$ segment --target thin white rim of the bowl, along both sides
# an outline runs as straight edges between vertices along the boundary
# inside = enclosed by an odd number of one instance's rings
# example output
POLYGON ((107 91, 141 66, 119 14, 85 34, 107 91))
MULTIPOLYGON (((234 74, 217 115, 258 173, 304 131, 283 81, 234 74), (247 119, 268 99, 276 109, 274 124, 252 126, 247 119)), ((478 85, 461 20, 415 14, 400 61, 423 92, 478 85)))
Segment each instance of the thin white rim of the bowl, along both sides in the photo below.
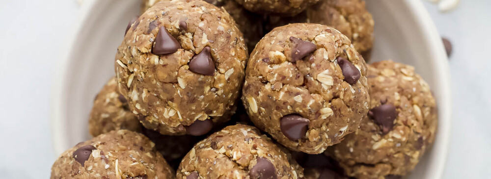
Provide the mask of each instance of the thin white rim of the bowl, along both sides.
MULTIPOLYGON (((54 76, 54 84, 52 86, 52 101, 51 101, 51 131, 52 131, 52 139, 53 139, 53 147, 55 150, 55 157, 59 153, 62 153, 66 149, 64 146, 67 146, 68 143, 66 141, 66 137, 64 136, 64 129, 67 125, 65 120, 66 117, 66 89, 70 82, 69 78, 66 76, 68 74, 68 69, 70 65, 73 63, 70 59, 73 53, 76 51, 76 46, 79 41, 83 40, 80 34, 82 34, 82 26, 87 24, 92 12, 97 11, 99 4, 104 3, 101 0, 85 0, 80 9, 80 17, 79 23, 76 23, 75 26, 71 29, 71 35, 67 41, 65 41, 64 54, 63 58, 58 60, 56 64, 56 69, 54 76)), ((450 128, 451 128, 451 90, 450 90, 450 73, 449 73, 449 65, 448 58, 443 48, 440 35, 436 30, 436 26, 433 23, 428 11, 420 0, 403 0, 403 3, 406 4, 410 13, 412 13, 413 17, 416 20, 416 24, 419 24, 422 30, 422 34, 425 39, 427 39, 427 43, 429 43, 429 47, 433 57, 433 63, 438 68, 435 68, 434 73, 436 76, 440 77, 439 81, 436 81, 437 86, 441 87, 441 90, 438 91, 441 99, 438 99, 438 108, 441 110, 438 116, 438 136, 436 137, 435 144, 433 147, 438 147, 438 149, 434 149, 438 152, 432 153, 431 157, 434 160, 433 165, 429 171, 432 172, 432 179, 440 179, 445 161, 448 153, 448 144, 450 139, 450 128), (443 123, 442 123, 443 121, 443 123)), ((429 157, 429 156, 426 156, 429 157)))

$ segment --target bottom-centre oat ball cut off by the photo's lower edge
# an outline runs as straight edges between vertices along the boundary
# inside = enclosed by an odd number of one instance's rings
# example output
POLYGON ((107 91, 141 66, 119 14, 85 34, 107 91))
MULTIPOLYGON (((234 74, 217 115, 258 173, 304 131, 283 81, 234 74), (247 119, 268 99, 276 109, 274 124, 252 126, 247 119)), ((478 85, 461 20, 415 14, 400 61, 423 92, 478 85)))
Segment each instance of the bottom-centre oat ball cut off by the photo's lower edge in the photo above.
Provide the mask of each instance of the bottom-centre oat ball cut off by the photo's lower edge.
POLYGON ((300 179, 303 169, 259 130, 235 125, 197 143, 177 170, 178 179, 300 179))

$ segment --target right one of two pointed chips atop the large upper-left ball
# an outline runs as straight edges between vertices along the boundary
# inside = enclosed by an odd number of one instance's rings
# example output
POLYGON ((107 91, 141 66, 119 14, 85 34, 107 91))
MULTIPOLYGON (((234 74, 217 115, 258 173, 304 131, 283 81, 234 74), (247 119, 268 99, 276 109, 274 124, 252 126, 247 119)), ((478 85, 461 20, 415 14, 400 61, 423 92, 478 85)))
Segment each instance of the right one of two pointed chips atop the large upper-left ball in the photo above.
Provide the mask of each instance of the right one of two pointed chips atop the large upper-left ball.
POLYGON ((194 55, 189 62, 189 70, 197 74, 213 76, 215 63, 212 60, 210 51, 210 47, 205 47, 197 55, 194 55))

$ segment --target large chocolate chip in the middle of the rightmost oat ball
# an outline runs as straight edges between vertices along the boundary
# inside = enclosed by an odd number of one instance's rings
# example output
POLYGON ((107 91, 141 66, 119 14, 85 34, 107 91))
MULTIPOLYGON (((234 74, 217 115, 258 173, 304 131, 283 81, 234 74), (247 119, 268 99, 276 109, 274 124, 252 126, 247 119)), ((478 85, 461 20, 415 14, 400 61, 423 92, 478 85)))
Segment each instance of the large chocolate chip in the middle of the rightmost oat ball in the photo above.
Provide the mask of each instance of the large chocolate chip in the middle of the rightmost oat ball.
POLYGON ((382 133, 386 134, 394 127, 397 111, 394 105, 385 103, 370 109, 368 116, 382 128, 382 133))

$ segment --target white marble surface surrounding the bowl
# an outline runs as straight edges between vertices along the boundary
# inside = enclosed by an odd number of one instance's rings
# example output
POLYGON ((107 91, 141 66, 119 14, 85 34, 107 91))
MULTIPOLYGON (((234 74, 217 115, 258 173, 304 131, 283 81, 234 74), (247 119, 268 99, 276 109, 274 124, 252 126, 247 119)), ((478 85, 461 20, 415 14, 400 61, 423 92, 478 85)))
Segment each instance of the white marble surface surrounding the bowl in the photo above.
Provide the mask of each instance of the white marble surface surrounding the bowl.
MULTIPOLYGON (((454 45, 450 58, 453 124, 443 179, 491 176, 490 0, 461 0, 439 13, 438 30, 454 45)), ((46 179, 56 156, 50 126, 55 64, 78 21, 76 0, 0 0, 0 178, 46 179)))

